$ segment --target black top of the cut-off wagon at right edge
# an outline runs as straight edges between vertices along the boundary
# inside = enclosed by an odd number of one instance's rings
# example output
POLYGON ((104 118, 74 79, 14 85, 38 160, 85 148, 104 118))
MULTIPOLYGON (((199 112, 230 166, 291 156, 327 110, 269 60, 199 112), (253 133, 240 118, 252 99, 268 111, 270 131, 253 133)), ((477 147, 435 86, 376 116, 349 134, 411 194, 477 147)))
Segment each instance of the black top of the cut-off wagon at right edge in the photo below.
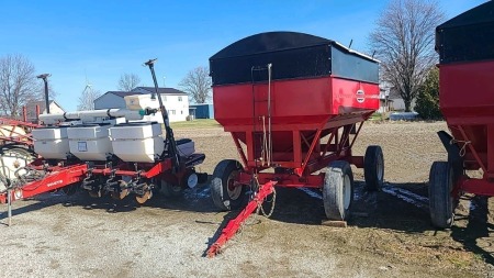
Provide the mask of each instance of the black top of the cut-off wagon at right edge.
POLYGON ((494 1, 487 1, 436 27, 440 64, 494 59, 494 1))

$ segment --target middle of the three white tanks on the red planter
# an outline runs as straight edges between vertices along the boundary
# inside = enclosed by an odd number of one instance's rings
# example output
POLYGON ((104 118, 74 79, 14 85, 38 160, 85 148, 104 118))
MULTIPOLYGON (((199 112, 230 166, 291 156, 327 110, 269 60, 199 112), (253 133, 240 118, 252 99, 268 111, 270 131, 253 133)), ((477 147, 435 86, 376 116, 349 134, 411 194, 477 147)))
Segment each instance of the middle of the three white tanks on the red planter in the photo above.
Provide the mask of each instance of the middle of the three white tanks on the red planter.
POLYGON ((67 130, 70 153, 81 160, 106 160, 112 155, 110 123, 80 124, 67 130))

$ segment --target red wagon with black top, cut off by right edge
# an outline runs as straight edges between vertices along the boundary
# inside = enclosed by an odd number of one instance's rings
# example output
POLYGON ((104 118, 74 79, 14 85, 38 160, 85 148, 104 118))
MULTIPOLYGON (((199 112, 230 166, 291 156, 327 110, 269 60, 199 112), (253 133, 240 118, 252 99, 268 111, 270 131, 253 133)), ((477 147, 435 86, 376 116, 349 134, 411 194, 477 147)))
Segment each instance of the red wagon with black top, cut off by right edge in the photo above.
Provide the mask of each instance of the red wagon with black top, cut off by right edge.
POLYGON ((467 11, 436 29, 439 103, 450 134, 438 132, 448 162, 429 176, 433 224, 449 227, 460 196, 494 196, 494 2, 467 11), (465 170, 481 170, 470 178, 465 170))

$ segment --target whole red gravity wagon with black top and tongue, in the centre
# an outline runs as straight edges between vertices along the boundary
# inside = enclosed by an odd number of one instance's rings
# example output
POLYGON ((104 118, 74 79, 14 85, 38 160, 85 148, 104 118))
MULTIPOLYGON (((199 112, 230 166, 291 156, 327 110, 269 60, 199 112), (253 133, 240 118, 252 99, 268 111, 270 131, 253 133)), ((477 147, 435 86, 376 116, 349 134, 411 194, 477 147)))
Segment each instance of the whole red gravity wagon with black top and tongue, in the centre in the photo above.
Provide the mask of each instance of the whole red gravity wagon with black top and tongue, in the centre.
POLYGON ((352 154, 363 122, 379 109, 378 60, 323 37, 269 32, 220 51, 210 70, 215 120, 232 134, 240 159, 216 166, 212 199, 221 210, 250 200, 210 256, 274 186, 321 189, 327 218, 338 221, 350 213, 351 164, 364 168, 368 189, 382 186, 381 147, 352 154))

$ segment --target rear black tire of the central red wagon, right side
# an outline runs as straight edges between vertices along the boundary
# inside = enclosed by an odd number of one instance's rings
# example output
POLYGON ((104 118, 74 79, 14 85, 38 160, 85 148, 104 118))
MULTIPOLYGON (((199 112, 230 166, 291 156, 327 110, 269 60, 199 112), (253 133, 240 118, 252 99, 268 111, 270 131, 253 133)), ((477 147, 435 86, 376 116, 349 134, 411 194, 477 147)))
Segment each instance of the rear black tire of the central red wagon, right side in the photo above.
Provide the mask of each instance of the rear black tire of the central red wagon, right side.
POLYGON ((363 177, 369 191, 380 191, 384 184, 384 156, 380 146, 368 146, 363 157, 363 177))

